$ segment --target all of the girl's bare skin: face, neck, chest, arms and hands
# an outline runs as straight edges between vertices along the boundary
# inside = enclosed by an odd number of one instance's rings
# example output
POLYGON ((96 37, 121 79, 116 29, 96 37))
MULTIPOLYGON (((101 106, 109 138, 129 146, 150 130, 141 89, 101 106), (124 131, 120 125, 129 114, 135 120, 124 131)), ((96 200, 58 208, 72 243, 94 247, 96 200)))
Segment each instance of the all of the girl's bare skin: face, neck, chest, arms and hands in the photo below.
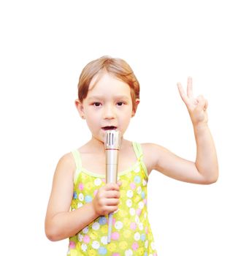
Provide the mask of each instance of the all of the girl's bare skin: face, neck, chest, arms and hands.
MULTIPOLYGON (((92 80, 88 95, 75 101, 80 116, 91 130, 92 138, 79 148, 82 165, 93 173, 104 174, 104 128, 113 126, 123 135, 135 112, 129 86, 105 72, 94 84, 92 80), (92 159, 97 159, 92 161, 92 159)), ((196 161, 177 157, 168 149, 143 143, 144 162, 148 174, 158 170, 166 176, 195 184, 212 184, 218 179, 218 160, 210 129, 207 125, 207 100, 203 96, 193 97, 192 79, 188 78, 187 94, 177 84, 181 99, 191 116, 196 140, 196 161)), ((139 99, 136 100, 139 104, 139 99)), ((128 169, 137 159, 131 141, 122 139, 119 151, 118 172, 128 169)), ((58 162, 53 178, 53 187, 45 218, 45 233, 51 241, 74 236, 94 219, 118 209, 120 183, 106 184, 99 189, 91 203, 75 211, 69 211, 73 195, 75 164, 72 154, 66 154, 58 162)))

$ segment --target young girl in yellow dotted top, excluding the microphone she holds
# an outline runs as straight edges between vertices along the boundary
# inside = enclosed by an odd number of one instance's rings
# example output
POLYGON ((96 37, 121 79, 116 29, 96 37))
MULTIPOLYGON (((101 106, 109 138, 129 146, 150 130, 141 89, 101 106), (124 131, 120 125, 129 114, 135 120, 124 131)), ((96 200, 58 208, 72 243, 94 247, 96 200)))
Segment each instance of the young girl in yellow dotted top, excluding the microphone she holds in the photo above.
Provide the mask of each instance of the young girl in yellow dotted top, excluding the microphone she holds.
POLYGON ((139 83, 122 59, 103 56, 85 66, 75 101, 91 130, 91 140, 62 157, 55 170, 45 218, 51 241, 69 238, 68 255, 156 255, 147 219, 147 181, 151 170, 196 184, 218 178, 218 161, 207 126, 207 100, 193 97, 192 79, 180 96, 188 108, 196 139, 196 162, 182 159, 153 143, 122 138, 118 183, 105 184, 104 133, 126 132, 139 104, 139 83), (71 208, 71 211, 69 211, 71 208), (113 214, 107 244, 107 214, 113 214))

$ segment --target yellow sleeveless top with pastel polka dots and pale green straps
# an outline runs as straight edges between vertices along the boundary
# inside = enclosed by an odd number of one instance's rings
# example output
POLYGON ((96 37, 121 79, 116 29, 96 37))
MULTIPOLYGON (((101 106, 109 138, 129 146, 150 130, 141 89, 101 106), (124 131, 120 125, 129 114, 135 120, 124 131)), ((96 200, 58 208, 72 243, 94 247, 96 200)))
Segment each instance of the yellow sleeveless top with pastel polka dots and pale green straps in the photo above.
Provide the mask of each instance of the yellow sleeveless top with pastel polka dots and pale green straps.
MULTIPOLYGON (((69 238, 68 256, 156 256, 153 234, 147 218, 147 169, 142 160, 142 148, 133 143, 137 162, 120 172, 120 204, 113 214, 112 237, 107 244, 108 216, 101 216, 69 238)), ((80 152, 72 151, 77 166, 71 210, 90 203, 99 188, 105 185, 104 175, 91 173, 82 167, 80 152)))

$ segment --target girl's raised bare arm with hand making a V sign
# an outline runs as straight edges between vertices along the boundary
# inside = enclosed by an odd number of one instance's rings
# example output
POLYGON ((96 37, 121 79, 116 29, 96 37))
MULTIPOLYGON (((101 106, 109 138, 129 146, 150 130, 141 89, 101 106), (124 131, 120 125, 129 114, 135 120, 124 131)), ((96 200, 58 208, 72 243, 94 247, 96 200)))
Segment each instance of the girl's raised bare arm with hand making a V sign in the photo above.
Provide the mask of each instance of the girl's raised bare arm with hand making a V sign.
POLYGON ((185 95, 180 83, 178 83, 178 89, 193 123, 196 140, 196 161, 192 162, 177 157, 177 155, 161 146, 147 144, 144 147, 149 172, 155 169, 180 181, 211 184, 218 179, 218 159, 212 135, 207 125, 207 100, 202 96, 196 99, 193 98, 191 78, 188 78, 187 95, 185 95))

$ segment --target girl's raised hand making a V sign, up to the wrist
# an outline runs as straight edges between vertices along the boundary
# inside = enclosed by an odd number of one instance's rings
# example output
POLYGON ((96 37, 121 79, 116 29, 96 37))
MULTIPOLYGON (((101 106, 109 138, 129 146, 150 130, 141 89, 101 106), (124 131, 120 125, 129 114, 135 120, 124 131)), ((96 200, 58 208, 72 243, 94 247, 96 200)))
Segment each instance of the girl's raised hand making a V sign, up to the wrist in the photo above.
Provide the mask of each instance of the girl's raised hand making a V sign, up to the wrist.
POLYGON ((188 85, 187 85, 187 94, 183 90, 183 86, 181 83, 177 83, 177 88, 180 92, 180 96, 185 103, 188 113, 191 117, 191 121, 193 126, 200 126, 203 124, 207 124, 207 99, 204 99, 202 95, 198 97, 193 97, 193 80, 191 77, 188 77, 188 85))

